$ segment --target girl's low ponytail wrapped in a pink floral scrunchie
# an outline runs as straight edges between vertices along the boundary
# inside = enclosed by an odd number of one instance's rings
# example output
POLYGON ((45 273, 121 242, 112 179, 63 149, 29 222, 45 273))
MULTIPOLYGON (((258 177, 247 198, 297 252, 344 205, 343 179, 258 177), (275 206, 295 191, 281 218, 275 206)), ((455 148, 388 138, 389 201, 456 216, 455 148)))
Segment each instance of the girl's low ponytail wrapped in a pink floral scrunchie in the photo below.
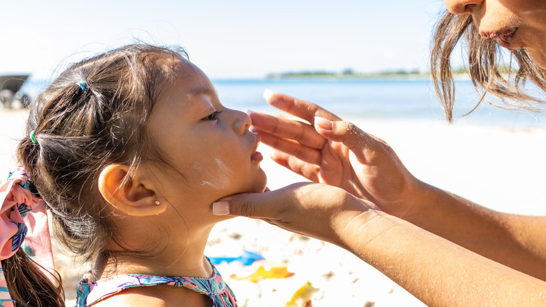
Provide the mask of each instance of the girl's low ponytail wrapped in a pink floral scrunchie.
POLYGON ((45 203, 32 190, 22 167, 0 185, 0 305, 61 307, 60 277, 49 271, 52 252, 45 203))

